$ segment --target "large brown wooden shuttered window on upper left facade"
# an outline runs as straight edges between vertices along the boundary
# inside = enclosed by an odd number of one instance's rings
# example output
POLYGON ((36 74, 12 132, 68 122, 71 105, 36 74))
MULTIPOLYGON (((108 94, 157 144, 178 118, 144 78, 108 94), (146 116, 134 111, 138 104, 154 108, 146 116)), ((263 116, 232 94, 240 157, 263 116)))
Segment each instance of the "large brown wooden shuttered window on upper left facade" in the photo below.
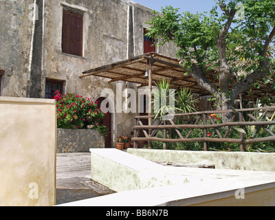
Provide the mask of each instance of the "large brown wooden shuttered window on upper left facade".
POLYGON ((63 12, 62 52, 83 56, 83 16, 63 12))

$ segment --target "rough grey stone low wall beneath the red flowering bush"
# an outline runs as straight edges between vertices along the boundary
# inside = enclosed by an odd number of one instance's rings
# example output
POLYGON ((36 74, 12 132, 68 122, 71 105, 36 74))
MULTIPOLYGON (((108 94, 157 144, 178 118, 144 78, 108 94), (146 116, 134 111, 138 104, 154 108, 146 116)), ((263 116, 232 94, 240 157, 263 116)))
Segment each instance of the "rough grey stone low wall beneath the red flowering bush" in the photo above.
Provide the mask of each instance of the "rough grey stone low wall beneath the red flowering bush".
POLYGON ((89 152, 90 148, 104 148, 104 137, 98 131, 57 129, 57 153, 89 152))

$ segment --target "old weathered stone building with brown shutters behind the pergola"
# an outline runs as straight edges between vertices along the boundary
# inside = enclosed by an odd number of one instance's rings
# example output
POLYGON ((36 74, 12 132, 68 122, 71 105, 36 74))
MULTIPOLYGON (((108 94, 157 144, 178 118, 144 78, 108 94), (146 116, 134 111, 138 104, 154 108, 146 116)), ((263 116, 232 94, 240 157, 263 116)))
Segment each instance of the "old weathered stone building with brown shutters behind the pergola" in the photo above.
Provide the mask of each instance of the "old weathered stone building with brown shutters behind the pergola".
MULTIPOLYGON (((79 76, 149 51, 175 57, 173 44, 149 47, 153 39, 144 33, 152 17, 151 9, 126 0, 1 0, 0 95, 53 98, 59 90, 96 101, 104 88, 115 92, 106 78, 79 76)), ((131 133, 134 116, 109 115, 107 146, 131 133)))

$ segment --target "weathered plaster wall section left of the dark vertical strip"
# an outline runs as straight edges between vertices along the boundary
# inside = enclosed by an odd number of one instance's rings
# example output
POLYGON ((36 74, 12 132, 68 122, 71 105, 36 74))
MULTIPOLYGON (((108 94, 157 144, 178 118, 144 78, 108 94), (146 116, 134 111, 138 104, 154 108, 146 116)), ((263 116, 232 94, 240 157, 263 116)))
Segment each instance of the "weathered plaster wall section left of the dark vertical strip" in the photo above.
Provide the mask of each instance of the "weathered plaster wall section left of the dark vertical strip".
POLYGON ((32 45, 32 0, 0 3, 0 69, 3 96, 26 97, 32 45))

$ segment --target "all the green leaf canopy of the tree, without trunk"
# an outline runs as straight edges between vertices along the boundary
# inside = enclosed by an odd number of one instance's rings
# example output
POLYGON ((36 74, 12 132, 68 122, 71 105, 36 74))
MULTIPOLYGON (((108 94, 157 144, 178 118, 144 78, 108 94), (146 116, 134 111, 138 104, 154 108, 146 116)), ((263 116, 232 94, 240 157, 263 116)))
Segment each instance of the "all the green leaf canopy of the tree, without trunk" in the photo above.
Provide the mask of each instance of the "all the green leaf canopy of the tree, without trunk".
MULTIPOLYGON (((274 0, 216 0, 216 5, 209 13, 183 12, 180 14, 179 8, 171 6, 162 8, 161 12, 162 14, 155 12, 153 19, 148 22, 151 25, 148 36, 156 39, 155 45, 162 46, 168 41, 173 41, 179 48, 177 57, 182 61, 187 72, 190 72, 194 63, 199 65, 204 74, 210 69, 220 67, 219 55, 221 54, 217 47, 217 36, 224 28, 229 28, 227 27, 228 18, 233 12, 236 15, 224 38, 226 63, 232 70, 232 76, 228 81, 232 83, 232 78, 236 78, 238 72, 245 73, 241 74, 238 80, 249 76, 259 68, 264 58, 273 61, 274 36, 267 54, 264 54, 265 57, 262 52, 275 26, 274 0), (243 9, 244 19, 237 16, 238 4, 243 5, 241 9, 243 9)), ((275 69, 272 68, 272 71, 267 73, 267 77, 273 83, 275 82, 274 72, 275 69)), ((219 74, 217 77, 219 78, 219 74)), ((228 92, 226 97, 230 98, 230 96, 228 92)))

